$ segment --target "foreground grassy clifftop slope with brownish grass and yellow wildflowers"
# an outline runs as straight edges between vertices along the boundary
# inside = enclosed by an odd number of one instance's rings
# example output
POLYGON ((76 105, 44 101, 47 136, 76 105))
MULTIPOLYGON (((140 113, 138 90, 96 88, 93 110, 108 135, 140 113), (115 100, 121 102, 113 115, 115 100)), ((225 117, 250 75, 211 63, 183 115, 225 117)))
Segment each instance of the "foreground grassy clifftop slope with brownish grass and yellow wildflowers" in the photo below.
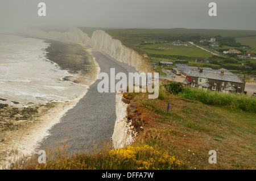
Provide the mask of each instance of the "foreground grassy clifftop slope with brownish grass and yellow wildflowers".
POLYGON ((108 143, 73 156, 60 151, 46 164, 31 160, 14 169, 255 169, 255 112, 208 105, 183 94, 169 94, 163 87, 158 99, 123 94, 127 118, 138 132, 132 145, 114 150, 108 143), (210 150, 217 153, 216 164, 208 162, 210 150))

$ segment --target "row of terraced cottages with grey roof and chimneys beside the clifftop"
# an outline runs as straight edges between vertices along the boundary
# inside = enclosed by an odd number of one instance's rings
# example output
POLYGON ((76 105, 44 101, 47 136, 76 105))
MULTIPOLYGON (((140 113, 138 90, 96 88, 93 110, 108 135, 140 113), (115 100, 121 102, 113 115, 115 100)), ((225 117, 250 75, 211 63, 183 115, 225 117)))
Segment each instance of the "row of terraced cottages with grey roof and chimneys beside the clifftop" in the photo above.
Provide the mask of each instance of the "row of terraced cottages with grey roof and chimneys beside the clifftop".
POLYGON ((180 75, 185 77, 183 85, 225 93, 240 94, 245 92, 245 78, 242 80, 229 70, 213 70, 185 65, 178 65, 176 69, 179 70, 180 75))

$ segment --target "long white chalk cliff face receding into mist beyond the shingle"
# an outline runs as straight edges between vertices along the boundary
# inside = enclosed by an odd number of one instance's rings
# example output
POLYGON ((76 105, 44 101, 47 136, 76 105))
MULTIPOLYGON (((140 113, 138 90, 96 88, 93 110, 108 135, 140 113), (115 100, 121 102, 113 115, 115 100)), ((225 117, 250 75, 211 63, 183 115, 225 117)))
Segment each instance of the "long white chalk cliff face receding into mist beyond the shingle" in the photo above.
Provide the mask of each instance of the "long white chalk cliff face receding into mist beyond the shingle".
POLYGON ((44 32, 39 29, 32 29, 28 31, 27 35, 89 45, 92 48, 108 53, 118 61, 134 66, 139 73, 155 72, 152 66, 150 66, 150 63, 140 54, 135 50, 122 45, 121 41, 113 39, 112 36, 103 30, 94 31, 92 37, 89 37, 79 28, 73 28, 67 32, 44 32))

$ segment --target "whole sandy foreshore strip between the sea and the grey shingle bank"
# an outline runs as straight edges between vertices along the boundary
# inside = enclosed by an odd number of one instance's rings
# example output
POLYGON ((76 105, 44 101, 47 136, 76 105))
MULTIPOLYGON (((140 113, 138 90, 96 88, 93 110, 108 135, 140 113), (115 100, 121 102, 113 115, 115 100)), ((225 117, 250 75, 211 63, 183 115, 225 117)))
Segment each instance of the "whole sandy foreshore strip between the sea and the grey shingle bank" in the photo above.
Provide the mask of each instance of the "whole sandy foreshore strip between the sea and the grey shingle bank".
MULTIPOLYGON (((51 43, 51 45, 46 48, 46 58, 58 64, 60 69, 66 69, 72 74, 72 77, 63 77, 61 81, 81 83, 82 85, 86 85, 89 89, 89 86, 97 80, 97 75, 100 73, 100 68, 94 60, 94 57, 90 55, 89 50, 78 43, 56 40, 46 41, 51 43), (51 49, 54 46, 52 46, 52 43, 56 44, 53 49, 51 49), (63 60, 63 57, 56 56, 56 54, 60 54, 57 49, 58 44, 67 45, 67 49, 72 47, 73 52, 65 50, 62 52, 62 56, 67 57, 67 59, 63 60), (77 58, 75 54, 79 54, 79 57, 77 58), (71 62, 71 57, 76 61, 72 61, 72 64, 61 64, 55 56, 63 60, 64 63, 68 60, 71 62), (78 62, 79 64, 77 64, 78 62), (74 64, 79 66, 73 66, 74 64)), ((63 47, 60 46, 59 50, 60 49, 63 49, 63 47)), ((1 132, 0 135, 0 169, 8 169, 12 162, 17 161, 23 155, 30 156, 36 153, 36 151, 38 151, 37 144, 49 135, 49 129, 59 123, 61 117, 63 117, 68 110, 76 106, 79 100, 85 96, 88 89, 85 90, 82 95, 66 102, 53 102, 47 105, 40 104, 33 106, 28 104, 28 107, 36 108, 37 111, 34 114, 32 113, 29 119, 18 120, 18 123, 11 118, 7 120, 12 129, 7 129, 1 132), (16 125, 19 126, 16 127, 16 125)), ((13 108, 16 108, 16 106, 11 105, 10 109, 13 110, 13 108)), ((6 107, 5 109, 8 108, 6 107)))

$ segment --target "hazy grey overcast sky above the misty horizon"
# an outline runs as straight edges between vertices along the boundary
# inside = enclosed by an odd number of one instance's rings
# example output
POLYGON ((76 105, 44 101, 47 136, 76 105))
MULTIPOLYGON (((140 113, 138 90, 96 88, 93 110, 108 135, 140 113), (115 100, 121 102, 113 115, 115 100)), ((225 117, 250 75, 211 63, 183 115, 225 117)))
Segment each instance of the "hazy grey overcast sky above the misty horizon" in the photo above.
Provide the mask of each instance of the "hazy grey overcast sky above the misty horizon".
POLYGON ((53 28, 204 28, 256 30, 256 0, 1 0, 0 30, 53 28), (46 16, 38 16, 38 3, 46 16), (209 16, 210 2, 217 16, 209 16))

